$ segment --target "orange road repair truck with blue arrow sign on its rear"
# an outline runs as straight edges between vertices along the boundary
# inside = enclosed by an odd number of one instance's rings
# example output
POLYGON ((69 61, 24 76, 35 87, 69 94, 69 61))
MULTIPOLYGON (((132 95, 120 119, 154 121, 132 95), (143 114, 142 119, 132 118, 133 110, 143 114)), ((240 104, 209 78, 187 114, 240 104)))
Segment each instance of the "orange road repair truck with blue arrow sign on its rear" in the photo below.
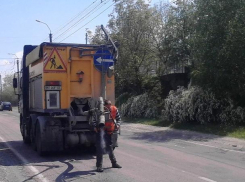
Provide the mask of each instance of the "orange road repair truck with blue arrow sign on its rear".
POLYGON ((110 44, 24 46, 19 80, 14 78, 13 85, 23 140, 40 155, 95 145, 93 123, 104 125, 109 116, 103 100, 115 102, 117 47, 106 37, 110 44))

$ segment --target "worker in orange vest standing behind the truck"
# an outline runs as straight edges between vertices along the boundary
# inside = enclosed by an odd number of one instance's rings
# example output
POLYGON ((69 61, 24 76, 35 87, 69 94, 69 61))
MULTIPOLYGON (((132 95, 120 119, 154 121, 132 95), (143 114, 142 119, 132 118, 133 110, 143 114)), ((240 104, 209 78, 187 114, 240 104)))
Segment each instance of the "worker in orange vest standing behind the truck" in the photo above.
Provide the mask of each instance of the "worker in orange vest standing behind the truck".
POLYGON ((102 163, 103 163, 103 147, 101 145, 101 142, 105 142, 105 149, 109 154, 109 158, 112 163, 112 168, 122 168, 117 161, 116 157, 113 152, 113 146, 112 146, 112 134, 115 131, 115 129, 119 129, 120 127, 120 121, 121 117, 119 115, 118 109, 116 106, 111 105, 110 100, 104 101, 105 111, 110 111, 110 120, 105 122, 104 131, 100 131, 96 129, 96 141, 97 141, 97 155, 96 155, 96 167, 97 172, 103 172, 102 163), (104 132, 104 136, 102 136, 102 132, 104 132), (102 138, 103 137, 103 138, 102 138))

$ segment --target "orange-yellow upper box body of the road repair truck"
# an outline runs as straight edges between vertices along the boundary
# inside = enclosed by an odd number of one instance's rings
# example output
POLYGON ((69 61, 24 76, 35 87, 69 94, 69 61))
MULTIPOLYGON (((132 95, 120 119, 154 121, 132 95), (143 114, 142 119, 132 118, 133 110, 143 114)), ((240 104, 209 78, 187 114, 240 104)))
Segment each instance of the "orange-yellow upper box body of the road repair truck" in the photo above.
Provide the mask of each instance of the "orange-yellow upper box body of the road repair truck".
MULTIPOLYGON (((43 44, 32 54, 27 55, 26 65, 29 66, 30 79, 42 77, 42 98, 46 98, 45 84, 47 81, 60 81, 60 108, 70 107, 74 98, 94 98, 101 96, 101 72, 94 66, 96 49, 87 45, 43 44), (86 46, 86 47, 85 47, 86 46), (89 51, 86 51, 89 50, 89 51), (81 55, 81 50, 83 50, 81 55), (53 63, 52 63, 53 60, 53 63), (82 81, 79 74, 83 72, 82 81)), ((105 74, 105 98, 115 103, 114 75, 105 74)), ((31 99, 35 108, 35 99, 31 99)), ((42 100, 42 108, 47 108, 47 99, 42 100)))

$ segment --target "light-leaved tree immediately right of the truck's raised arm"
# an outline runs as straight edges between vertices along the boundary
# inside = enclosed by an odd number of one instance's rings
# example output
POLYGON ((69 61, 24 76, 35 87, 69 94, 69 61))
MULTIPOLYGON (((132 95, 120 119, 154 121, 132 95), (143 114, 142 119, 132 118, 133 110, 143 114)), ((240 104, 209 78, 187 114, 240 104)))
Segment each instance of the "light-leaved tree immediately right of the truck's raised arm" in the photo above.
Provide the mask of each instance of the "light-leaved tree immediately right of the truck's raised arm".
POLYGON ((143 0, 123 0, 116 4, 108 28, 120 44, 116 65, 117 93, 145 92, 144 84, 154 67, 152 15, 155 9, 143 0))

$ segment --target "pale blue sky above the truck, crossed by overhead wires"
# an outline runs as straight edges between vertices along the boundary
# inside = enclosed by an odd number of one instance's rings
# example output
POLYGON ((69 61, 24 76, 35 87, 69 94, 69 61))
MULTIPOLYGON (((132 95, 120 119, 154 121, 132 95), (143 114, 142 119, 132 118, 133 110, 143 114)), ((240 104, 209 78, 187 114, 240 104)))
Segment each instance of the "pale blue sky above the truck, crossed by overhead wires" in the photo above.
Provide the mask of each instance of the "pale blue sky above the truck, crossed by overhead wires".
MULTIPOLYGON (((151 0, 151 5, 161 0, 151 0)), ((163 0, 164 1, 164 0, 163 0)), ((17 71, 24 45, 86 43, 86 28, 106 26, 113 0, 0 0, 0 75, 17 71), (102 2, 101 2, 102 1, 102 2), (46 24, 39 23, 36 20, 46 24)))

